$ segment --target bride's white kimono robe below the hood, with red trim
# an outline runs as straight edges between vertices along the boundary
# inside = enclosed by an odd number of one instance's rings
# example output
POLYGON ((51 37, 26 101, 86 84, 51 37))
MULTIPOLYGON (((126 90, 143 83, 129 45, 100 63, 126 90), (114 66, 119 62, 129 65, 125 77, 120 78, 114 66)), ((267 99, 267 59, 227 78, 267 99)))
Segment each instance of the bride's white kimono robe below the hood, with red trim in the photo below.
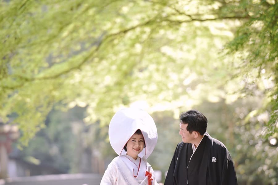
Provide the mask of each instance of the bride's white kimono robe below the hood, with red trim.
MULTIPOLYGON (((115 157, 108 165, 101 179, 100 185, 148 185, 148 177, 145 172, 150 164, 144 158, 133 159, 127 155, 115 157), (137 165, 141 159, 140 167, 137 165), (137 163, 136 163, 137 162, 137 163), (135 166, 139 167, 138 168, 135 166), (133 171, 134 170, 134 171, 133 171)), ((154 174, 154 170, 150 167, 150 172, 154 174)), ((154 175, 152 175, 153 185, 158 185, 154 175)))

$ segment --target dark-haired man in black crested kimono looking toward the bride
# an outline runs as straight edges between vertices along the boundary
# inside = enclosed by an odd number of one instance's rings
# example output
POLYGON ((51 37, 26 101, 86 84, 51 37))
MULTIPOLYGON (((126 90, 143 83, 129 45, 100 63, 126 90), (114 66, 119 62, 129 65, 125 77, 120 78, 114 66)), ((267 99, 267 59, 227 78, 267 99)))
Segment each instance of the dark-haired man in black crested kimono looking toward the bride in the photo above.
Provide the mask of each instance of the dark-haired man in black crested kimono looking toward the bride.
POLYGON ((223 143, 208 135, 207 118, 196 110, 180 115, 182 142, 164 185, 237 185, 234 163, 223 143))

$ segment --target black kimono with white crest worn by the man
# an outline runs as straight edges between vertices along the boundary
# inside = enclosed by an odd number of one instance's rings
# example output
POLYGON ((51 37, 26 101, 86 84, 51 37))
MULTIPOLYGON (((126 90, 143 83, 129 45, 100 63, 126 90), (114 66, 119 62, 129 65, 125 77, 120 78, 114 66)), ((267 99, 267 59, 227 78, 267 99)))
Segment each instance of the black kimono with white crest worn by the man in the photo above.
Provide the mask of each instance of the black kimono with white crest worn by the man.
POLYGON ((238 184, 234 163, 228 149, 208 133, 205 133, 194 155, 192 154, 191 143, 178 144, 164 185, 238 184))

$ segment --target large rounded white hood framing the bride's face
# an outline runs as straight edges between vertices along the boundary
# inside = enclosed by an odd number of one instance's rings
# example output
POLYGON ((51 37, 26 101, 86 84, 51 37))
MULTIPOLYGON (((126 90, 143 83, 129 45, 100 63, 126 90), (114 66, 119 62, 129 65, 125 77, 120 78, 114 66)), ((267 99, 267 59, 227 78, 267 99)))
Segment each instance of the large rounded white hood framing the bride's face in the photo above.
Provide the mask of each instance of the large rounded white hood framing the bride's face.
POLYGON ((112 117, 108 136, 118 155, 126 154, 124 145, 138 129, 141 130, 146 143, 138 156, 147 159, 157 143, 157 129, 153 118, 146 111, 137 108, 123 108, 112 117))

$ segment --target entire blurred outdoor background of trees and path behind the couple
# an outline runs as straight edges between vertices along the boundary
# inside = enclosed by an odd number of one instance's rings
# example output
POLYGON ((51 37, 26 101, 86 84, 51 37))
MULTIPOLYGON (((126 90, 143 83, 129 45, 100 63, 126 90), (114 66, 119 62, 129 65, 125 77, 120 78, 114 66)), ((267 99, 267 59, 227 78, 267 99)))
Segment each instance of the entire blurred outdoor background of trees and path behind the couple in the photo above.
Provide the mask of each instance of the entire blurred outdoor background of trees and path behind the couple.
POLYGON ((148 111, 163 184, 197 109, 239 185, 278 183, 276 0, 0 0, 0 184, 95 185, 120 108, 148 111))

